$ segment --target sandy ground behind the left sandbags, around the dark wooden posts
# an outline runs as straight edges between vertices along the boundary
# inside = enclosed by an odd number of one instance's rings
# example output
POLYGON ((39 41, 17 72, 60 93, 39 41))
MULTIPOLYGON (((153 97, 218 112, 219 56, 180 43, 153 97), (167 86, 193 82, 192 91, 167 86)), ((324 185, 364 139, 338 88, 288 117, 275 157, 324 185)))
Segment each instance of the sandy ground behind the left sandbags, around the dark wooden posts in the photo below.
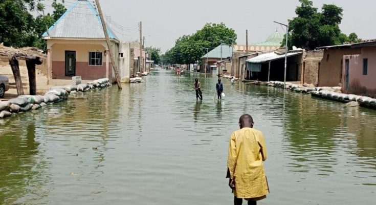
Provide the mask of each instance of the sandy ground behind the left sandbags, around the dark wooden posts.
MULTIPOLYGON (((29 94, 29 76, 28 76, 28 70, 26 66, 19 66, 19 70, 21 73, 21 80, 22 85, 24 88, 25 95, 29 94)), ((17 97, 17 89, 15 80, 13 77, 13 72, 10 66, 0 66, 0 74, 5 75, 9 78, 9 85, 10 88, 8 91, 5 92, 4 98, 0 98, 0 100, 8 100, 14 97, 17 97)), ((87 80, 83 80, 83 83, 87 83, 87 80)), ((42 72, 38 69, 36 69, 36 89, 37 94, 42 95, 46 91, 48 91, 52 86, 65 86, 65 85, 71 85, 72 80, 59 80, 59 79, 53 79, 50 82, 50 85, 47 85, 47 76, 43 75, 42 72)))

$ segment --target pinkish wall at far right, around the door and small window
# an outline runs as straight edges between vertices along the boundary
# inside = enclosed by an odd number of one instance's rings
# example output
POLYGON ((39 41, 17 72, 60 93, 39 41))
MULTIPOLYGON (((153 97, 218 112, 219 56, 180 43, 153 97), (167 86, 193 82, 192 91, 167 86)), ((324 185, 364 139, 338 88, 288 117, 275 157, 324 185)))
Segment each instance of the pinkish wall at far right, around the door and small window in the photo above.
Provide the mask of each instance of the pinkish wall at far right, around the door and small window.
POLYGON ((359 55, 344 55, 342 92, 376 97, 376 47, 363 47, 359 55), (363 59, 368 58, 367 75, 363 75, 363 59), (349 60, 349 88, 346 90, 346 63, 349 60))

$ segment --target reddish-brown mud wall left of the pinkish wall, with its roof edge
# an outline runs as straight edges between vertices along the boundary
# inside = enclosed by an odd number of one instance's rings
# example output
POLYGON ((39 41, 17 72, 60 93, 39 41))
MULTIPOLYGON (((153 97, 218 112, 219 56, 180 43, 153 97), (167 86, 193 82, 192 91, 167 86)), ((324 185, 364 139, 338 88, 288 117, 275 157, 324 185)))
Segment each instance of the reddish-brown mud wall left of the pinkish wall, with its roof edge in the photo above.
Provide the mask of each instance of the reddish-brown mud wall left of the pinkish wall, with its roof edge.
POLYGON ((318 86, 339 86, 342 83, 343 55, 360 54, 360 49, 329 48, 320 61, 318 86))

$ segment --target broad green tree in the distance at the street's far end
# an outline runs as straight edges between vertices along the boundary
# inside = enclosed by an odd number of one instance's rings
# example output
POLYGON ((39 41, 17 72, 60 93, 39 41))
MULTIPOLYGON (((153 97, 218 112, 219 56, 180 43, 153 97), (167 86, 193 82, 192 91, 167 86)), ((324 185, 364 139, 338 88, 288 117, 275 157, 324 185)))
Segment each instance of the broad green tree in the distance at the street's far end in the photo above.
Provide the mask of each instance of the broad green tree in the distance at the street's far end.
POLYGON ((236 34, 224 23, 206 24, 192 35, 183 35, 176 39, 175 46, 162 57, 165 64, 193 64, 207 52, 221 43, 235 44, 236 34))

